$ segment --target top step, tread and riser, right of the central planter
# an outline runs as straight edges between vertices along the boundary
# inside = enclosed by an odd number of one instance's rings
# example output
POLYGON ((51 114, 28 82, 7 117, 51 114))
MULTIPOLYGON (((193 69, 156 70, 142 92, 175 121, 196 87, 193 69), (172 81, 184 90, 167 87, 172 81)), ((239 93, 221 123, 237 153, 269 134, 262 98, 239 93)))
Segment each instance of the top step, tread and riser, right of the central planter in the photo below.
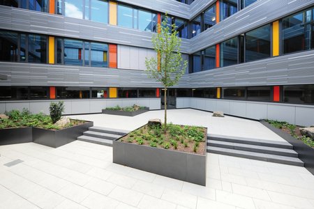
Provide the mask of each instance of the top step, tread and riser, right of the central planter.
POLYGON ((274 148, 293 149, 293 146, 287 141, 271 141, 265 139, 251 139, 244 137, 231 137, 218 134, 208 134, 207 139, 215 141, 227 141, 237 144, 251 144, 257 146, 269 146, 274 148))

